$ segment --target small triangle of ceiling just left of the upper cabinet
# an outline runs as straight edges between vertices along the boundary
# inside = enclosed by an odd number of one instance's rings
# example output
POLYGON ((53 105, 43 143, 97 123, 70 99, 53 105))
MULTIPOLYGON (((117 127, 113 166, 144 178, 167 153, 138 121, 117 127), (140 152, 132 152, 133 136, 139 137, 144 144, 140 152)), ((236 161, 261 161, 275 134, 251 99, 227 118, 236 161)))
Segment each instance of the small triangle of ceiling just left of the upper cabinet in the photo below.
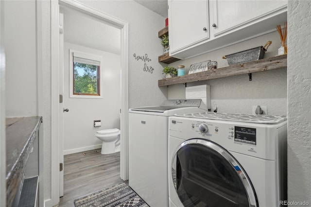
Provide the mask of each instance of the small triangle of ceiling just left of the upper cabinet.
POLYGON ((134 0, 164 18, 168 17, 167 0, 134 0))

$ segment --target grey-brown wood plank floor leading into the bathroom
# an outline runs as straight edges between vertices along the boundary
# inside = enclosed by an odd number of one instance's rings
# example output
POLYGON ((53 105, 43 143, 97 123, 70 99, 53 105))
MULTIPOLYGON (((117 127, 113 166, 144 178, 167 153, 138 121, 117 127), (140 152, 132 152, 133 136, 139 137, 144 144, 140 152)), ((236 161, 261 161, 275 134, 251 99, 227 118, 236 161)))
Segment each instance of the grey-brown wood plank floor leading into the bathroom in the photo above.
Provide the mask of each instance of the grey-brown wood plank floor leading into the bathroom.
POLYGON ((75 153, 64 156, 64 196, 60 207, 74 207, 74 199, 120 183, 120 153, 75 153))

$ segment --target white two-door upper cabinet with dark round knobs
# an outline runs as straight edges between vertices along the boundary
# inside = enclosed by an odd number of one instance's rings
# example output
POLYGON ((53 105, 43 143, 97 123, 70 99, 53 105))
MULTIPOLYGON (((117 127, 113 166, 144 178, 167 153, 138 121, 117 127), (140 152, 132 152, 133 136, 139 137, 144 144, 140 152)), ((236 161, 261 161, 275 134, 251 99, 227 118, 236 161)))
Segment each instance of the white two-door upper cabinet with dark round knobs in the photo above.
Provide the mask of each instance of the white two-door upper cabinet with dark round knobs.
POLYGON ((168 5, 170 56, 179 59, 276 31, 287 20, 287 0, 168 0, 168 5))

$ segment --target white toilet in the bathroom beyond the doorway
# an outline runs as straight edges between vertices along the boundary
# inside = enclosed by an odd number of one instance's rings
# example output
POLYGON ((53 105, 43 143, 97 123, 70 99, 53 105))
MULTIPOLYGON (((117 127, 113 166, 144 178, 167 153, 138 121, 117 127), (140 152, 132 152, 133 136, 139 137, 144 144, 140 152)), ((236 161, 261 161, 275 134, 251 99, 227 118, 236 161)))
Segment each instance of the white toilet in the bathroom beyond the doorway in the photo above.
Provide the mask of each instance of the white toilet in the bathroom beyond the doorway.
POLYGON ((97 131, 95 137, 103 141, 101 154, 107 155, 120 152, 120 129, 104 129, 97 131))

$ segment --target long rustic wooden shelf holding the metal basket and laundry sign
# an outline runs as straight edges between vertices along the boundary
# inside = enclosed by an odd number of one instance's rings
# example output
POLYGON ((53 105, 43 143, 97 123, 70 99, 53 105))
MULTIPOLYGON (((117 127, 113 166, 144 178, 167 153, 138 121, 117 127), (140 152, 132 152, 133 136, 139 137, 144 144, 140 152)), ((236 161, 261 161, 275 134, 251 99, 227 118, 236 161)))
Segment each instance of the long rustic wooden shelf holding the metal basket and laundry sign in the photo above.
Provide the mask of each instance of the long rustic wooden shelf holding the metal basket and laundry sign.
POLYGON ((248 63, 231 65, 224 68, 212 69, 203 72, 192 73, 173 78, 158 80, 158 86, 170 86, 174 84, 184 84, 196 81, 205 81, 214 78, 223 78, 235 75, 249 74, 273 69, 286 69, 287 55, 279 55, 248 63))

